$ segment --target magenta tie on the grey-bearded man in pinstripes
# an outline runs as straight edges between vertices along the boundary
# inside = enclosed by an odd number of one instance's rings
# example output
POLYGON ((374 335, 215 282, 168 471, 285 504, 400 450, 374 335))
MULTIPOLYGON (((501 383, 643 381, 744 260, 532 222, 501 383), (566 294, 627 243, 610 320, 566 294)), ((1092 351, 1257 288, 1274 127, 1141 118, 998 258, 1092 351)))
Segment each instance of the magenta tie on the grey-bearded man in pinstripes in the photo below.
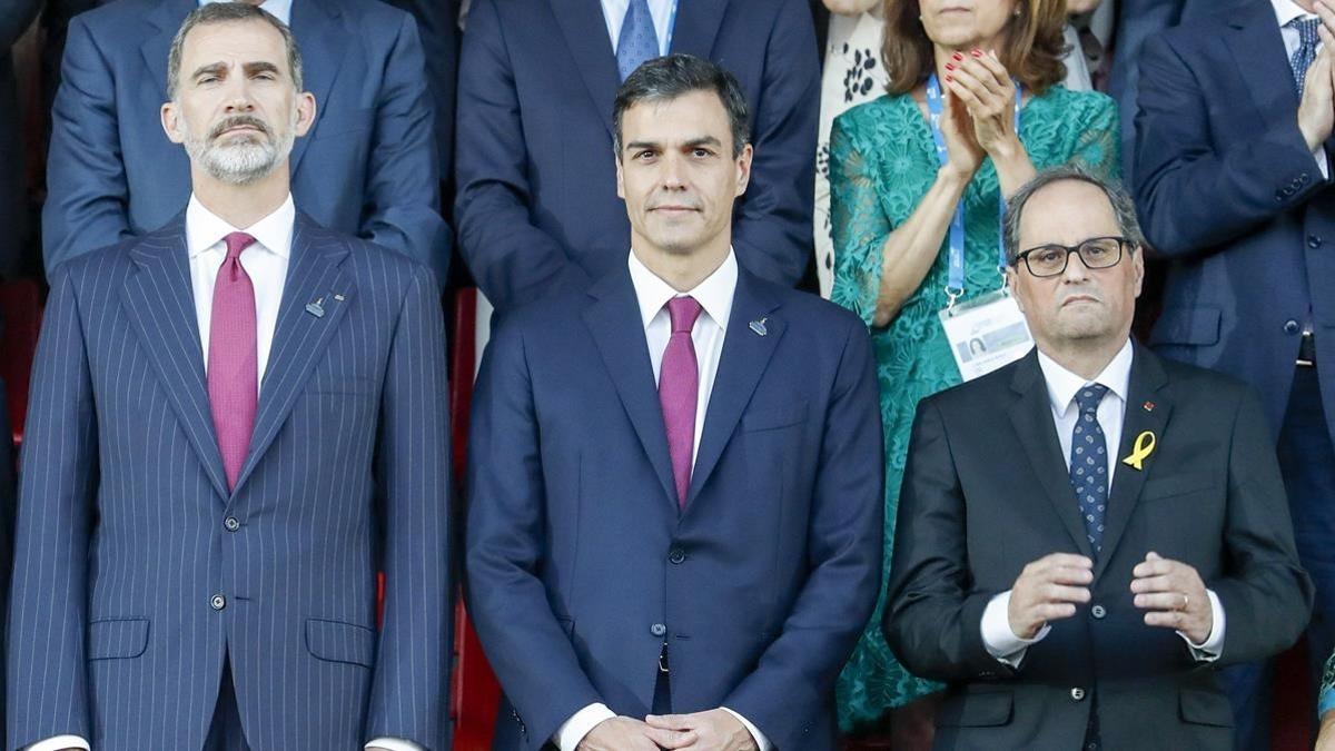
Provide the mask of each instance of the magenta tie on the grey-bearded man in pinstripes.
POLYGON ((255 350, 255 286, 240 259, 255 238, 232 233, 223 242, 227 243, 227 259, 214 283, 214 313, 208 325, 208 404, 231 490, 255 428, 259 354, 255 350))

